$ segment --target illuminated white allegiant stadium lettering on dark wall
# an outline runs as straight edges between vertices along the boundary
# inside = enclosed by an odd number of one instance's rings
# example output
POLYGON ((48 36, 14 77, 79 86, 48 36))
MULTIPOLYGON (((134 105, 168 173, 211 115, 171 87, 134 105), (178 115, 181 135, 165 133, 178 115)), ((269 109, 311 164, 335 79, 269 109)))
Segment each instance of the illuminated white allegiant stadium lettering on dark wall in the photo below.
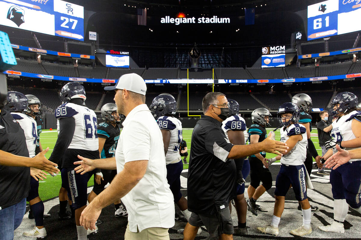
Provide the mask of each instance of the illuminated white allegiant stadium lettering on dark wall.
POLYGON ((179 25, 181 23, 230 23, 230 18, 219 18, 218 16, 213 16, 212 18, 186 18, 186 17, 177 17, 171 18, 169 16, 165 16, 160 19, 160 23, 174 23, 175 25, 179 25))

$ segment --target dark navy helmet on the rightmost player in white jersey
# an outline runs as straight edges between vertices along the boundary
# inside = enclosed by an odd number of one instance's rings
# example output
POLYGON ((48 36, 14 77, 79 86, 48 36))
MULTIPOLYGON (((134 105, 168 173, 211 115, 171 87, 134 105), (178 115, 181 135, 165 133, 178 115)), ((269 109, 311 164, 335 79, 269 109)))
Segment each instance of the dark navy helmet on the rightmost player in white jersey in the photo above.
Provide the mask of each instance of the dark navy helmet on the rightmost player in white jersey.
POLYGON ((331 108, 329 110, 331 116, 335 116, 338 113, 345 113, 348 109, 357 107, 358 99, 352 92, 340 92, 331 101, 332 107, 336 104, 340 104, 340 106, 336 109, 331 108))

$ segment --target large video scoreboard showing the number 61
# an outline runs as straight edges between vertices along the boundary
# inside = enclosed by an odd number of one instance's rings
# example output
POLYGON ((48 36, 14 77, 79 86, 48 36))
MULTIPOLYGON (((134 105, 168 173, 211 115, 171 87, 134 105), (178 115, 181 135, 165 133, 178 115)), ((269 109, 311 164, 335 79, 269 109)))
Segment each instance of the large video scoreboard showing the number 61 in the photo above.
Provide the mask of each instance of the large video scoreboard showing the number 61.
POLYGON ((361 30, 361 1, 327 0, 307 8, 307 40, 361 30))

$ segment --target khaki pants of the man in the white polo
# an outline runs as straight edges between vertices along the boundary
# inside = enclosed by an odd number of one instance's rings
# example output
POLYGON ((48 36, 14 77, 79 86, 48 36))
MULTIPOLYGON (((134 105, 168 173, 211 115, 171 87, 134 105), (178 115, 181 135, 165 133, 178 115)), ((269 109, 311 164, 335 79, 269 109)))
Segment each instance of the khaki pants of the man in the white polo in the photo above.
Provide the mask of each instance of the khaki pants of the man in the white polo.
POLYGON ((137 228, 137 232, 131 232, 128 223, 124 240, 169 240, 168 228, 149 227, 141 232, 137 228))

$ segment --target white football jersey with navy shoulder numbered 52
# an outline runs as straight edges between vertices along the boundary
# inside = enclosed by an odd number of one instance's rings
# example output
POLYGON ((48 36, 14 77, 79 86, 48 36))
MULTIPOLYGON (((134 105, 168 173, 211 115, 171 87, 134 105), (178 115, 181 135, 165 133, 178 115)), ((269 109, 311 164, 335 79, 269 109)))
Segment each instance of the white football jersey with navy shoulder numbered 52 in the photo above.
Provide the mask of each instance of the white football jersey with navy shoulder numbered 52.
MULTIPOLYGON (((179 145, 183 139, 182 123, 175 117, 162 116, 157 120, 161 130, 170 131, 170 140, 167 154, 165 155, 165 164, 174 163, 181 157, 179 154, 179 145)), ((179 162, 179 161, 178 161, 179 162)))

